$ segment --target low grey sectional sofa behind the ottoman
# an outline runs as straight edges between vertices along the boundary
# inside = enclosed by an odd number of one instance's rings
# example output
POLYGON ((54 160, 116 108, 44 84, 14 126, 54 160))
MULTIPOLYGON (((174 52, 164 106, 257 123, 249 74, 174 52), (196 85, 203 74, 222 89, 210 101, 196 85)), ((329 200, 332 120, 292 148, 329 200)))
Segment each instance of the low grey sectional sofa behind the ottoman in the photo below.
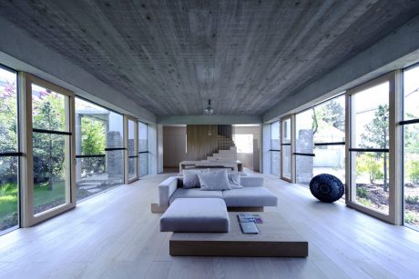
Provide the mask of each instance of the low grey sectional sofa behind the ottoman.
POLYGON ((169 206, 178 198, 221 198, 228 207, 276 206, 278 198, 263 187, 263 177, 241 176, 240 189, 202 191, 199 188, 182 188, 183 177, 171 176, 158 185, 158 205, 169 206))

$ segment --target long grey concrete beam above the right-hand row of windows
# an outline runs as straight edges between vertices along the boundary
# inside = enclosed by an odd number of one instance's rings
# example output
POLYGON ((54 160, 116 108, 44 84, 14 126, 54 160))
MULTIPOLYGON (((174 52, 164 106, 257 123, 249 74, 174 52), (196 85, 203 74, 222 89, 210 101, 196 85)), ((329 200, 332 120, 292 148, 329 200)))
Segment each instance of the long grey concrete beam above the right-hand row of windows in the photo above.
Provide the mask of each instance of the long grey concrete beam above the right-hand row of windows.
POLYGON ((300 111, 332 95, 419 61, 419 15, 263 114, 263 122, 300 111))

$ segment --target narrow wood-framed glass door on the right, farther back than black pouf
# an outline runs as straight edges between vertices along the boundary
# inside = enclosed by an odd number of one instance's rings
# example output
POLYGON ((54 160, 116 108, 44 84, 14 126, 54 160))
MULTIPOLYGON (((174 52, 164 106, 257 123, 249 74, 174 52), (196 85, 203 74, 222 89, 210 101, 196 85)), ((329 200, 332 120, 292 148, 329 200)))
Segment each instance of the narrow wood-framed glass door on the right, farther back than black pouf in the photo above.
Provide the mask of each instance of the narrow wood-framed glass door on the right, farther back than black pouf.
POLYGON ((292 117, 281 119, 281 179, 292 182, 292 117))

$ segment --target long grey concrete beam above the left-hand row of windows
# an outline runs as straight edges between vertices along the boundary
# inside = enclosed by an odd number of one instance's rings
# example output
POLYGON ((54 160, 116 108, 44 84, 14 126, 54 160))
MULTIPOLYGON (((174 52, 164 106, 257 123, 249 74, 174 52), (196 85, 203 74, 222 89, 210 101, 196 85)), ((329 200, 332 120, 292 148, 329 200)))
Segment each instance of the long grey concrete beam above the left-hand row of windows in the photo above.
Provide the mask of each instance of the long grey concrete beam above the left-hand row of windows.
POLYGON ((36 41, 26 31, 3 18, 0 40, 0 63, 17 71, 24 71, 65 87, 90 101, 105 105, 126 115, 132 115, 147 123, 156 123, 157 117, 136 104, 127 95, 90 75, 72 64, 65 56, 36 41))

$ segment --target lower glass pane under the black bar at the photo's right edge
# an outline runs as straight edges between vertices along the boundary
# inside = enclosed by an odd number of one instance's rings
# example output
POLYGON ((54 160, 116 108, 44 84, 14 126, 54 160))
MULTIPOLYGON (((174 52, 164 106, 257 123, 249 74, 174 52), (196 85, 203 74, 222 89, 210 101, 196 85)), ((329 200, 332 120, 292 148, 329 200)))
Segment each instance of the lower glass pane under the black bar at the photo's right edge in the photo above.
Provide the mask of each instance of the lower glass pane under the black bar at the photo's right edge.
POLYGON ((419 229, 419 124, 404 126, 404 223, 419 229))

